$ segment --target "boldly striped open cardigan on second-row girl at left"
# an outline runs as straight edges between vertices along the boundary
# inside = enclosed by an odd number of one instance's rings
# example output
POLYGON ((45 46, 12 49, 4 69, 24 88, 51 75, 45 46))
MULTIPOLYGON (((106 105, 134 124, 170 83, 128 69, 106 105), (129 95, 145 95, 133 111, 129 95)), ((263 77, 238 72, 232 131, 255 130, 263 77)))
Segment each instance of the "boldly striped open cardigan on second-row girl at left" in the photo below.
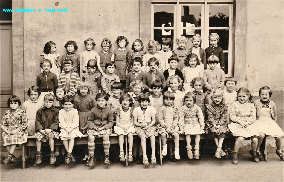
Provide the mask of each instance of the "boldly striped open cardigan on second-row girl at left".
MULTIPOLYGON (((79 83, 80 83, 80 78, 79 78, 78 73, 72 71, 72 73, 70 74, 69 93, 71 93, 73 96, 77 93, 77 87, 79 83)), ((65 73, 61 73, 59 75, 58 85, 61 85, 65 88, 66 86, 66 74, 65 73)))

